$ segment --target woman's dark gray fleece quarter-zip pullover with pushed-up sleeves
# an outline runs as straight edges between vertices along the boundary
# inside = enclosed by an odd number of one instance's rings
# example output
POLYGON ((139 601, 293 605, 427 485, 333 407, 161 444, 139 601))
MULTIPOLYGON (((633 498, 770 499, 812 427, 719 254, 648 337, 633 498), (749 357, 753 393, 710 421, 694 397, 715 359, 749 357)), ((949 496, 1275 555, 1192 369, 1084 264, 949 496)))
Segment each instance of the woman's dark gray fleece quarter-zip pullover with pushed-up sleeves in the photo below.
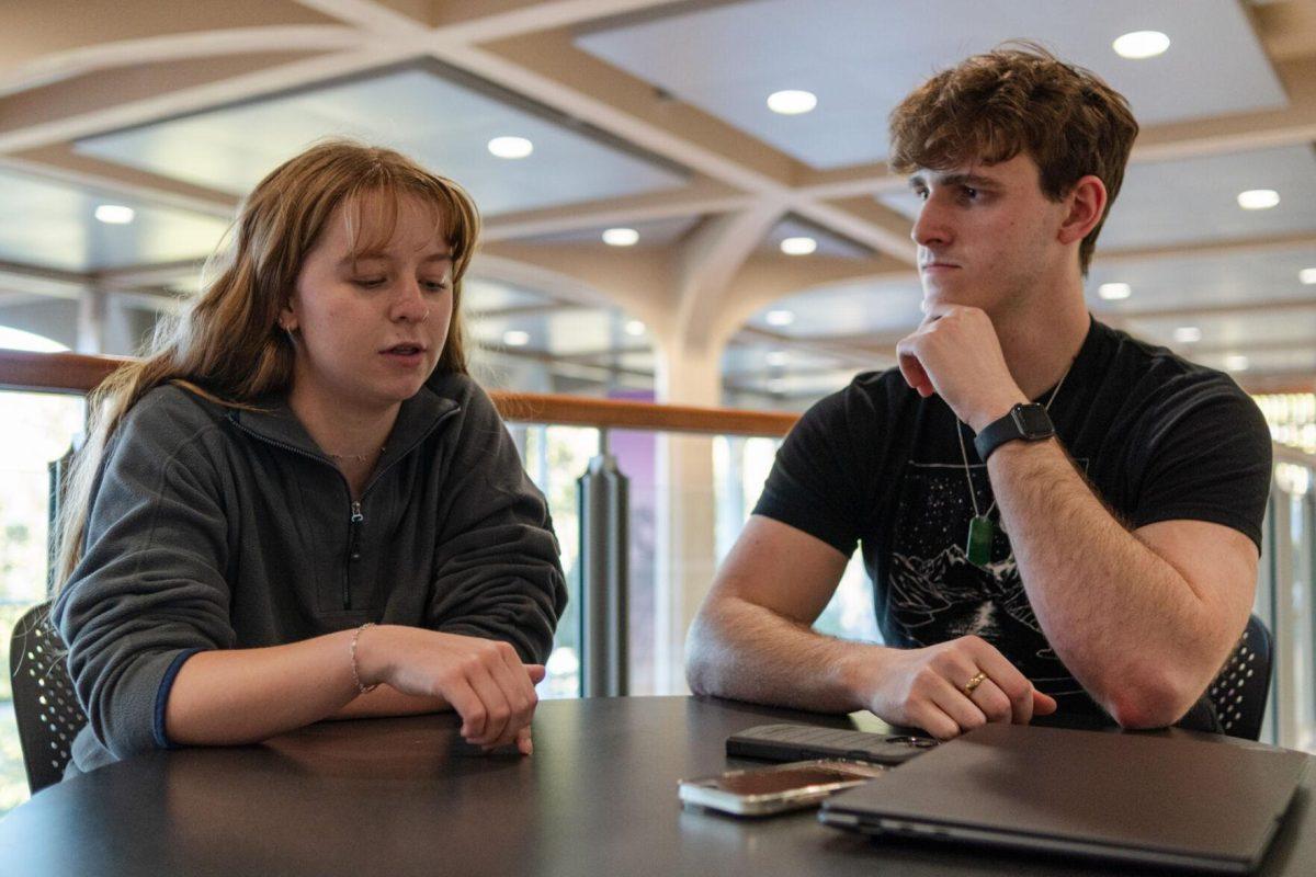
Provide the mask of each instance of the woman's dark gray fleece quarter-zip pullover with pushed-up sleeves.
POLYGON ((471 379, 436 375, 403 404, 359 504, 284 401, 259 408, 161 387, 107 447, 51 610, 89 719, 75 769, 167 747, 168 689, 201 650, 372 621, 547 657, 566 606, 553 523, 471 379))

